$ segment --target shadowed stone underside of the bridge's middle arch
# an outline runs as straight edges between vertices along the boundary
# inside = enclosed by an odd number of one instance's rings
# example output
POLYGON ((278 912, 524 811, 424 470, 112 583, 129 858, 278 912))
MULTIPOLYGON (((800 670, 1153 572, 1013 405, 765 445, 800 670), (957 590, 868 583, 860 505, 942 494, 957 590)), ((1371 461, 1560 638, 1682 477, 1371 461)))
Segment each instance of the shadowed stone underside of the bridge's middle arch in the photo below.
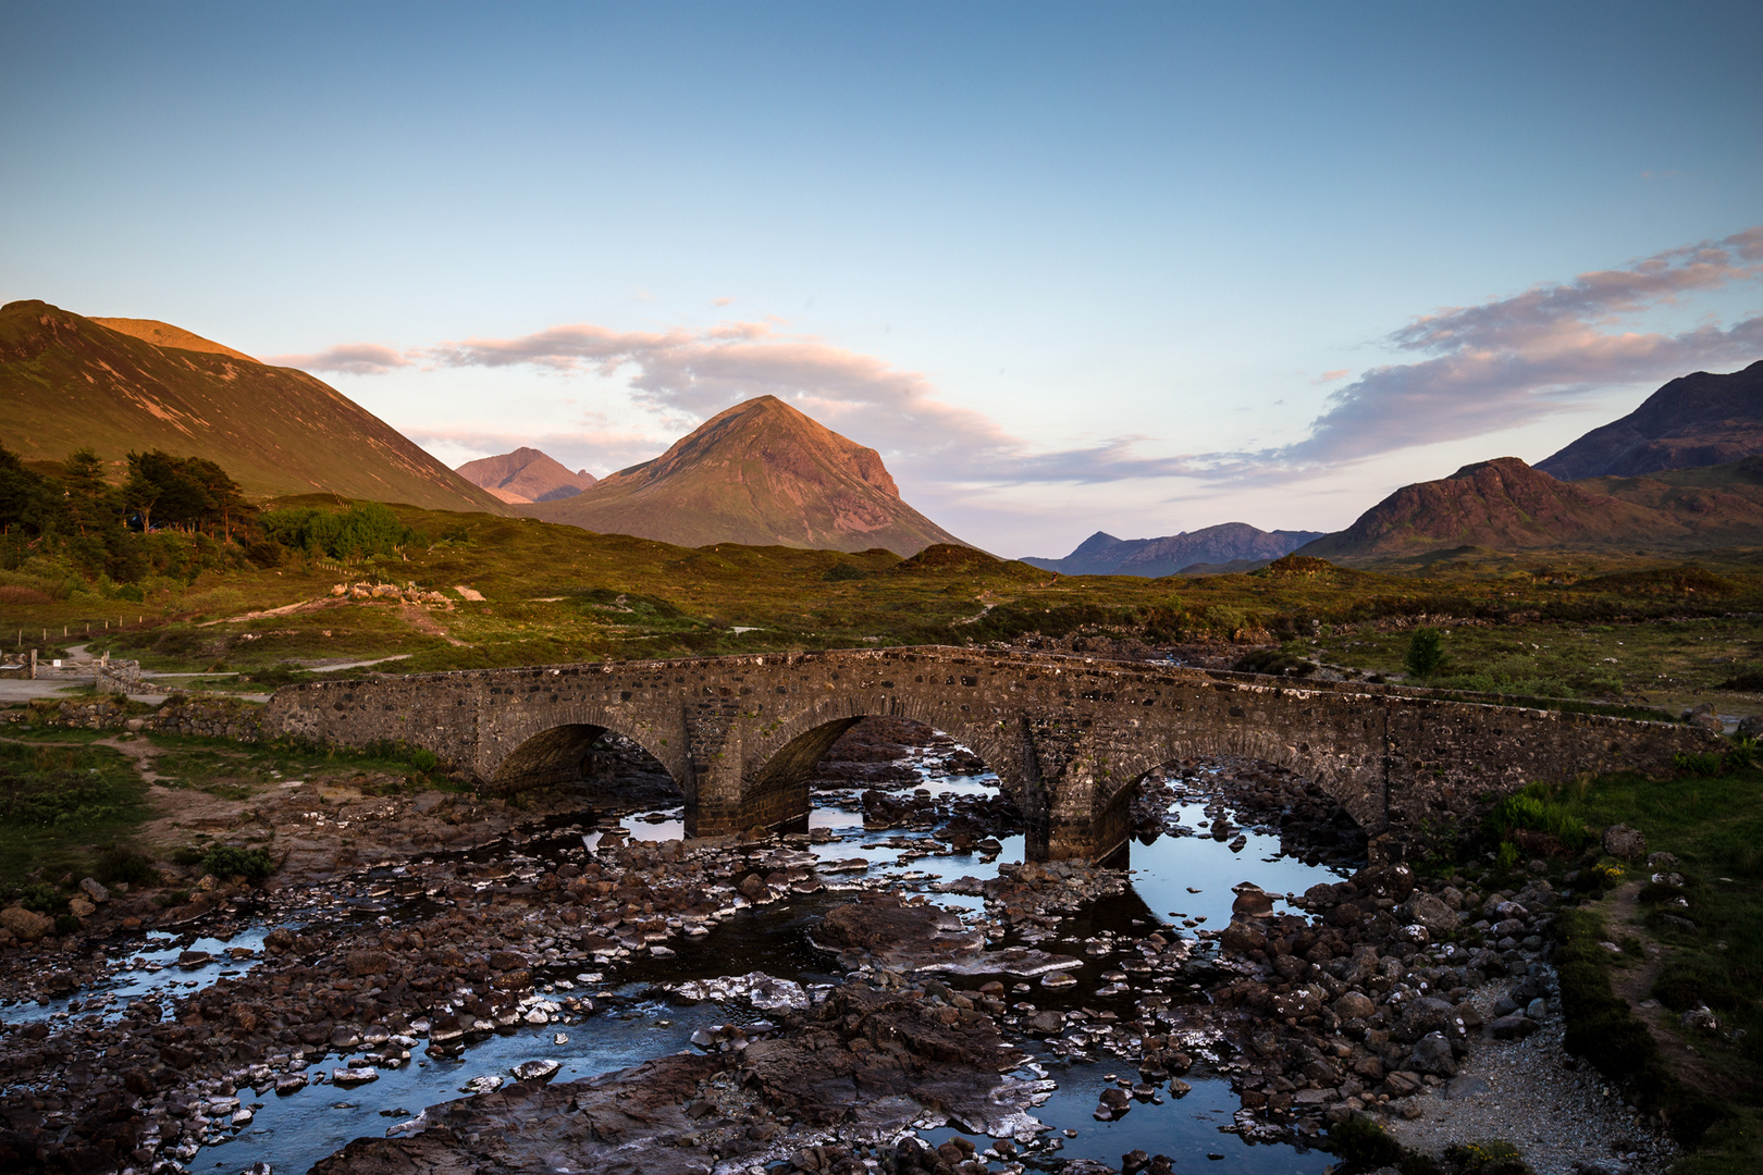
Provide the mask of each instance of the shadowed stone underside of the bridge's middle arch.
MULTIPOLYGON (((906 719, 919 726, 943 731, 952 740, 968 747, 989 766, 1000 782, 1000 791, 1010 796, 1030 814, 1037 803, 1024 786, 1017 770, 1023 761, 1021 749, 1012 747, 1001 731, 980 726, 978 722, 952 719, 931 706, 866 706, 853 705, 853 699, 827 701, 802 710, 777 724, 770 735, 753 747, 746 756, 748 766, 740 779, 742 823, 748 826, 765 826, 781 831, 806 831, 813 798, 809 794, 815 766, 825 757, 848 729, 866 717, 906 719)), ((1045 803, 1038 805, 1042 810, 1045 803)))

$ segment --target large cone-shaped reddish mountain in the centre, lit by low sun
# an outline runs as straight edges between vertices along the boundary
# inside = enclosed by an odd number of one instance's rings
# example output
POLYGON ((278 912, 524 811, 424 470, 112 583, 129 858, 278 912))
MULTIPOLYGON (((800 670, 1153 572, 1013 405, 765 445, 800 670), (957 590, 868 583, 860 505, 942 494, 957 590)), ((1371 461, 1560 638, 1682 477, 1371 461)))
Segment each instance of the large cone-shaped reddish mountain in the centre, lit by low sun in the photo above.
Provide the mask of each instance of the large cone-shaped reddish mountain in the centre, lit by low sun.
POLYGON ((582 493, 517 507, 545 521, 679 546, 746 543, 915 555, 961 543, 899 499, 882 454, 760 396, 712 416, 652 462, 582 493))

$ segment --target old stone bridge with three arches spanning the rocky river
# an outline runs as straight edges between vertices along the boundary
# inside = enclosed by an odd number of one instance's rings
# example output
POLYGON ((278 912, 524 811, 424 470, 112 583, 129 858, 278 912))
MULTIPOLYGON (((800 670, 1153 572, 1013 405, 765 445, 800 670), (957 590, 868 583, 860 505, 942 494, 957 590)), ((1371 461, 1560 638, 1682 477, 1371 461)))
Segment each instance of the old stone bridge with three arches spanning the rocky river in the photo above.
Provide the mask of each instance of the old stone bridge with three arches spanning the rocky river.
POLYGON ((1717 745, 1708 731, 1440 701, 1363 684, 1084 657, 882 648, 472 669, 289 685, 264 735, 397 738, 488 791, 582 777, 605 731, 652 754, 686 794, 686 835, 800 828, 822 754, 866 715, 947 731, 1028 817, 1030 860, 1109 860, 1134 784, 1201 756, 1248 756, 1320 784, 1400 854, 1530 780, 1631 768, 1717 745))

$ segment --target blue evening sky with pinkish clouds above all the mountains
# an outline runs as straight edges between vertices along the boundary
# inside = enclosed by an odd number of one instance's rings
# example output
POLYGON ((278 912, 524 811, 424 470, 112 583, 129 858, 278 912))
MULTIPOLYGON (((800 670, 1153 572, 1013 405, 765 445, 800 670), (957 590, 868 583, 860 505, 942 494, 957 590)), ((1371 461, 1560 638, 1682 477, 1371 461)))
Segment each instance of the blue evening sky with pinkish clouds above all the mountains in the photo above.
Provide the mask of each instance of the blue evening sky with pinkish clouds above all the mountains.
POLYGON ((599 476, 777 395, 1000 555, 1333 530, 1763 358, 1763 5, 0 0, 0 301, 599 476))

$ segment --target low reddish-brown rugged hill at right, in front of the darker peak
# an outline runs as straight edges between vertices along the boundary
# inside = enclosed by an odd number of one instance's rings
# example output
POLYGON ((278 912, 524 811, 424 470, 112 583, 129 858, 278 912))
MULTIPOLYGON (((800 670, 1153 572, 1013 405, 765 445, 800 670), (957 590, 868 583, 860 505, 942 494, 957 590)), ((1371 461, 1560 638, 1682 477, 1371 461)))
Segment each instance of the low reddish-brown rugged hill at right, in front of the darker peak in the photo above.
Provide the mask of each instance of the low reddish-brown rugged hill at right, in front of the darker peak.
POLYGON ((1514 551, 1759 544, 1763 481, 1749 481, 1749 465, 1557 481, 1516 456, 1502 456, 1402 486, 1345 530, 1298 553, 1342 558, 1454 546, 1514 551))

